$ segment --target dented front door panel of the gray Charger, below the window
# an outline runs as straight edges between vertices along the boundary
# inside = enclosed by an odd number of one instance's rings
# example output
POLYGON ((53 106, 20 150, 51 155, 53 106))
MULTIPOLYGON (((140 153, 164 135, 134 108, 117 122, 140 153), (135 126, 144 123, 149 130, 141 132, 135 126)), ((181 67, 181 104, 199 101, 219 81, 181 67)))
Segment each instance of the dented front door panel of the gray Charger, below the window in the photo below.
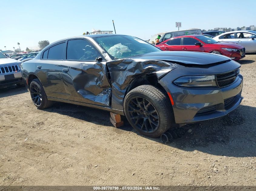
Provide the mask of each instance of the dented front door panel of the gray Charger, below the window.
POLYGON ((111 86, 105 62, 63 61, 68 72, 62 73, 69 100, 110 106, 111 86))

